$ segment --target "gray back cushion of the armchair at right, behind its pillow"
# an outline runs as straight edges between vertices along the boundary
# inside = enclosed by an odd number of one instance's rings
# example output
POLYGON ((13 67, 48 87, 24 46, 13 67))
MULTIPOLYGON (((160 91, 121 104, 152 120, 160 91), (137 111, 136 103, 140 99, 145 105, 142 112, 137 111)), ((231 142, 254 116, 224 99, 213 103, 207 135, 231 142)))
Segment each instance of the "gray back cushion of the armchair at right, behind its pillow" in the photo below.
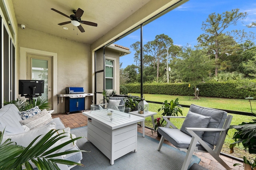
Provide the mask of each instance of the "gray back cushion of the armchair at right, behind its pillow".
MULTIPOLYGON (((212 117, 208 123, 208 128, 223 128, 228 113, 223 110, 217 110, 191 104, 189 110, 204 116, 212 117)), ((204 132, 202 139, 212 145, 217 145, 220 132, 204 132)))

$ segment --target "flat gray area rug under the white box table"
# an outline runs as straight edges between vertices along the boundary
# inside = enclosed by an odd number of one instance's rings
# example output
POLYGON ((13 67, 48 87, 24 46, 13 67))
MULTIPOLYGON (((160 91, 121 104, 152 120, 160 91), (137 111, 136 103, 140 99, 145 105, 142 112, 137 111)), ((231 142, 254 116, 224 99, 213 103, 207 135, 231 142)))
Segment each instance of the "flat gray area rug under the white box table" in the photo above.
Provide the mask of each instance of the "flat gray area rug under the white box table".
MULTIPOLYGON (((72 129, 71 133, 76 137, 86 137, 87 127, 72 129)), ((138 133, 137 152, 130 152, 114 160, 114 164, 110 165, 110 160, 92 143, 87 142, 86 138, 79 139, 79 149, 91 152, 83 152, 81 163, 84 166, 75 166, 72 170, 180 170, 186 152, 166 144, 158 151, 158 143, 156 139, 142 137, 142 134, 138 133)), ((200 158, 193 155, 190 166, 199 162, 200 158)))

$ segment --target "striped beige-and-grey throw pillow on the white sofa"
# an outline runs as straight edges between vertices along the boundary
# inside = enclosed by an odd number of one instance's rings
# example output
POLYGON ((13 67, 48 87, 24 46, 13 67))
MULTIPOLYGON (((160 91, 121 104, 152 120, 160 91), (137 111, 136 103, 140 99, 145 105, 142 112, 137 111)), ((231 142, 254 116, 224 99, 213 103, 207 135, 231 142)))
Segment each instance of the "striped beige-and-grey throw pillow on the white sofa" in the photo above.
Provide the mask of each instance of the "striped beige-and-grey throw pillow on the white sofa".
POLYGON ((52 115, 48 113, 46 109, 43 109, 40 113, 34 115, 25 120, 21 120, 20 123, 22 125, 26 125, 30 130, 35 129, 37 127, 41 127, 47 125, 52 121, 52 115))

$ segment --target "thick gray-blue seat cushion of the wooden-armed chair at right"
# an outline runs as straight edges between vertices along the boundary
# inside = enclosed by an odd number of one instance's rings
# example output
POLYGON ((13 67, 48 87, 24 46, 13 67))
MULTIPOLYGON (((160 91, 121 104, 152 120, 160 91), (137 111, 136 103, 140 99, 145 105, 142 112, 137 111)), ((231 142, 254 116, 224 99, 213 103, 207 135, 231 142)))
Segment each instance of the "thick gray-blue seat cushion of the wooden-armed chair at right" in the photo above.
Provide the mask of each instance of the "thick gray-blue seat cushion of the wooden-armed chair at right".
MULTIPOLYGON (((172 145, 180 149, 188 149, 192 137, 180 131, 180 129, 172 129, 168 127, 158 127, 158 132, 165 137, 172 145)), ((206 142, 206 144, 211 148, 214 149, 214 146, 210 143, 206 142)), ((204 147, 197 142, 196 147, 198 150, 205 150, 204 147)))

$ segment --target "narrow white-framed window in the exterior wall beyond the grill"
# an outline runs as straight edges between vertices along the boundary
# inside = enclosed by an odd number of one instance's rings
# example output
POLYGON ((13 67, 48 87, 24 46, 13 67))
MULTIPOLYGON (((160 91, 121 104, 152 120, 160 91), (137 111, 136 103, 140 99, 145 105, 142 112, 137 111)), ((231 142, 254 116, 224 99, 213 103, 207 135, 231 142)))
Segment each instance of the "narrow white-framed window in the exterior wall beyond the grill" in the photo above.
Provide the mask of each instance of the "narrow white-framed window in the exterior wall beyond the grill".
POLYGON ((105 60, 106 89, 113 89, 114 85, 114 61, 105 60))

